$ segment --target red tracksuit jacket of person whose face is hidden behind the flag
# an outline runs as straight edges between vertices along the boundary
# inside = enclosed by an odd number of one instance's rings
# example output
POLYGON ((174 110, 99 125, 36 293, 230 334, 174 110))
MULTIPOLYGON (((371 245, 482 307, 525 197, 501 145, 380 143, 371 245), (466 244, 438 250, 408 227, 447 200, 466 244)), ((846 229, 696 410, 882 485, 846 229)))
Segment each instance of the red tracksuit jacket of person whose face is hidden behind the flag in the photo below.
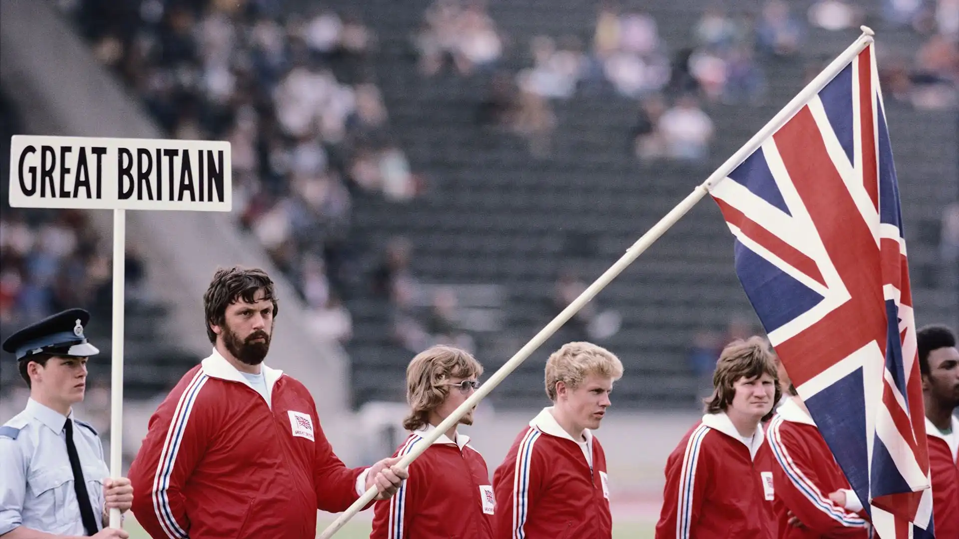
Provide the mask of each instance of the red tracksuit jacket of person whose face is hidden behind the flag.
POLYGON ((793 399, 787 398, 769 422, 766 443, 779 464, 773 467, 779 539, 869 537, 862 504, 816 424, 793 399), (840 489, 847 491, 845 507, 829 499, 830 493, 840 489), (790 511, 804 527, 789 526, 790 511))

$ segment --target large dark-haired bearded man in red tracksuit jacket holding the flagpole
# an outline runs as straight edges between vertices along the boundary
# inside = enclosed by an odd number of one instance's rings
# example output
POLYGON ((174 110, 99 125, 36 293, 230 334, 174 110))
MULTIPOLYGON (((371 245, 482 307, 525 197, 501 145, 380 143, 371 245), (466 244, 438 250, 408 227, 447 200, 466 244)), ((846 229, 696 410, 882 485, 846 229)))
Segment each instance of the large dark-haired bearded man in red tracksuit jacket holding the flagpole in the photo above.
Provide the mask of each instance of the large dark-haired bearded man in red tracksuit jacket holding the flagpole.
POLYGON ((129 470, 147 532, 313 539, 316 509, 344 511, 374 485, 392 496, 408 477, 399 458, 347 468, 307 388, 264 363, 278 312, 269 275, 219 269, 203 303, 213 353, 153 413, 129 470))

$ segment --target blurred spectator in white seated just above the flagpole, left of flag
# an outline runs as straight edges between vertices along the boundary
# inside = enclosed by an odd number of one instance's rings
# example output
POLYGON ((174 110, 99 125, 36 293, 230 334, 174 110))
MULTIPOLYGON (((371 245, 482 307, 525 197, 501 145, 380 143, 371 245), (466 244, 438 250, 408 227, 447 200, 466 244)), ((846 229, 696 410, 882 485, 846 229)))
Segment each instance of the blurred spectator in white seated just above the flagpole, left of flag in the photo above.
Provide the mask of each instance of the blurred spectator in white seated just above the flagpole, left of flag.
POLYGON ((713 121, 691 96, 681 97, 660 119, 667 155, 673 159, 703 161, 713 140, 713 121))

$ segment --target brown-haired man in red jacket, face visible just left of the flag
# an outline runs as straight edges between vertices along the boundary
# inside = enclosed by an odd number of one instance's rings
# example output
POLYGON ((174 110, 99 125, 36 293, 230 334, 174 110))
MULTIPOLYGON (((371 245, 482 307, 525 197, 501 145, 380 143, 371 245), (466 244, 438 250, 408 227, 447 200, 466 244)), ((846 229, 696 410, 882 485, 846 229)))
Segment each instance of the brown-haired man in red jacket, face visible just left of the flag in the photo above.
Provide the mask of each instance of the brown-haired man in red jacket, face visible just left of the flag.
POLYGON ((667 458, 656 539, 773 539, 773 462, 761 422, 780 399, 777 366, 759 337, 719 355, 706 414, 667 458))

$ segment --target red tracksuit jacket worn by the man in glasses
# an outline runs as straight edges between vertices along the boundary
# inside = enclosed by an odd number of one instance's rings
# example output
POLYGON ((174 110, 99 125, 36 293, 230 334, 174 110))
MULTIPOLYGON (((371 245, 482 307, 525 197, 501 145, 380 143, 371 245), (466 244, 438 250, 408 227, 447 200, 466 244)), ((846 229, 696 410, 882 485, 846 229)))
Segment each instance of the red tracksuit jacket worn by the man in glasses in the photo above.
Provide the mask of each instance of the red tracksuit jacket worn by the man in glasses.
MULTIPOLYGON (((432 430, 409 434, 393 456, 406 455, 432 430)), ((409 464, 396 495, 374 506, 370 539, 493 539, 493 486, 469 439, 457 434, 454 443, 443 434, 409 464)))

